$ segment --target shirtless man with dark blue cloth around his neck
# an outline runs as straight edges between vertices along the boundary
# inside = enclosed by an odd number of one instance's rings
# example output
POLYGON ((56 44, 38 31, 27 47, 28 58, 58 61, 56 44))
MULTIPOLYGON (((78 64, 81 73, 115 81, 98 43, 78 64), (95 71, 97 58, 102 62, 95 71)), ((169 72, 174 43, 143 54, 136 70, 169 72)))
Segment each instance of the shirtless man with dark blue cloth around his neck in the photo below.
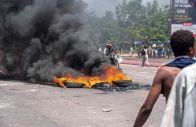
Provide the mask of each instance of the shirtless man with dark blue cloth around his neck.
POLYGON ((187 30, 179 30, 173 33, 170 38, 170 45, 176 59, 160 67, 154 77, 152 88, 146 101, 140 108, 134 127, 142 127, 149 117, 153 106, 161 93, 166 97, 166 102, 175 77, 182 68, 193 64, 195 57, 196 43, 193 33, 187 30))

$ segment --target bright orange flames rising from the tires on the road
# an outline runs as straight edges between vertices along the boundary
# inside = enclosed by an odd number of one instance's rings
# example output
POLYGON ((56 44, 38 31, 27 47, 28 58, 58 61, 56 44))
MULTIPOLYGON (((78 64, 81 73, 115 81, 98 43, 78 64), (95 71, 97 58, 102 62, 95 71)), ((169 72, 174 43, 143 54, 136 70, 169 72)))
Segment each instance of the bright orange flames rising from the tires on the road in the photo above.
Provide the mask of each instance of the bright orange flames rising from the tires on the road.
POLYGON ((100 82, 107 82, 111 86, 114 86, 112 81, 115 80, 131 80, 126 77, 122 71, 117 69, 115 66, 104 66, 104 72, 100 76, 89 77, 89 76, 81 76, 81 77, 73 77, 71 74, 67 74, 61 78, 54 77, 54 82, 59 84, 61 87, 64 87, 64 81, 66 82, 75 82, 85 84, 84 87, 92 88, 93 85, 100 82))

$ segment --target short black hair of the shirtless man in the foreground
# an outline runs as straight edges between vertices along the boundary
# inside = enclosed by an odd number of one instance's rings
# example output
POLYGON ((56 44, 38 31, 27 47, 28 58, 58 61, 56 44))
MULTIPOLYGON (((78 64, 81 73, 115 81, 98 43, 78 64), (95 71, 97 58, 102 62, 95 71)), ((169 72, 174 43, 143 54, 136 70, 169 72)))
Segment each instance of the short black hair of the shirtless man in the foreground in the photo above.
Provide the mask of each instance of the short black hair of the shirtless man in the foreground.
POLYGON ((178 30, 170 38, 170 46, 175 57, 187 55, 189 48, 193 47, 195 38, 193 33, 188 30, 178 30))

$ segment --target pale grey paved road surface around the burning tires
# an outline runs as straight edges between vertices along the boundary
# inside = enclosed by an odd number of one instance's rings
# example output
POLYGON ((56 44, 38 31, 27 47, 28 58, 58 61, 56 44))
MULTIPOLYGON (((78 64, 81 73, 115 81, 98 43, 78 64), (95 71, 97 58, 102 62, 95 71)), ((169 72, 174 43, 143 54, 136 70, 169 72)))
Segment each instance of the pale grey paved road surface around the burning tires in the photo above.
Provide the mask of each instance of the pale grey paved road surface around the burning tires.
MULTIPOLYGON (((157 68, 121 65, 133 81, 151 84, 157 68), (142 78, 141 78, 142 77, 142 78)), ((149 91, 104 92, 56 85, 0 81, 1 127, 131 127, 149 91), (103 109, 110 112, 103 112, 103 109)), ((165 100, 158 99, 144 127, 158 127, 165 100)))

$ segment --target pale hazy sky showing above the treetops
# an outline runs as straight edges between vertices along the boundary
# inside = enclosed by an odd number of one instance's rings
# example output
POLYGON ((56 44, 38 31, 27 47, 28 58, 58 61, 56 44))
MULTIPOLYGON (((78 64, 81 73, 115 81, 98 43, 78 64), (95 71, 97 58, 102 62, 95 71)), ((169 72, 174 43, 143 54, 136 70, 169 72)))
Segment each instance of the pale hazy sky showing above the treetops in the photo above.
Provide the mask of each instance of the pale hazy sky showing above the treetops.
MULTIPOLYGON (((85 3, 88 3, 87 10, 95 12, 97 16, 104 16, 104 13, 107 10, 112 10, 115 13, 115 7, 118 3, 122 3, 123 0, 83 0, 85 3)), ((147 2, 153 2, 154 0, 143 0, 145 5, 147 2)), ((169 4, 170 0, 157 0, 160 6, 164 4, 169 4)))

